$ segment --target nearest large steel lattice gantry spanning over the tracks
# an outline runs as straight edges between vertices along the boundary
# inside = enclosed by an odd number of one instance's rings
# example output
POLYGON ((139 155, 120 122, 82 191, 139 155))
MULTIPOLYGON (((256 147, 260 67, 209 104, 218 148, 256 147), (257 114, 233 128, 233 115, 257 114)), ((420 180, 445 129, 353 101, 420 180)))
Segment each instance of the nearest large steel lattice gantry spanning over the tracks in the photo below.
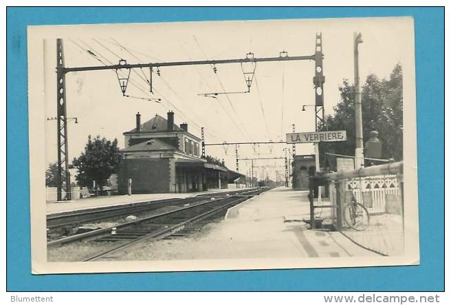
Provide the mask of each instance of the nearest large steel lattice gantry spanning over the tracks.
MULTIPOLYGON (((287 52, 280 52, 279 56, 275 57, 255 57, 246 55, 245 58, 241 59, 215 59, 215 60, 205 60, 205 61, 172 61, 172 62, 154 62, 154 63, 127 63, 126 60, 120 59, 117 65, 94 65, 94 66, 84 66, 84 67, 65 67, 64 64, 64 54, 63 54, 63 39, 56 39, 56 54, 57 54, 57 64, 56 64, 56 83, 57 83, 57 99, 56 99, 56 109, 58 116, 57 132, 58 132, 58 200, 70 200, 70 180, 69 180, 69 161, 68 161, 68 139, 67 139, 67 116, 66 116, 66 84, 65 84, 65 74, 70 72, 90 72, 90 71, 100 71, 100 70, 113 70, 118 76, 118 81, 120 83, 120 89, 123 96, 126 96, 126 87, 129 81, 131 69, 144 67, 149 69, 150 79, 152 77, 153 70, 157 70, 159 73, 159 68, 161 67, 179 67, 188 65, 216 65, 229 64, 229 63, 263 63, 263 62, 281 62, 281 61, 314 61, 315 62, 315 76, 314 76, 314 88, 315 88, 315 105, 316 114, 322 113, 324 117, 324 94, 322 92, 323 84, 325 82, 325 77, 322 72, 322 59, 324 54, 322 54, 322 35, 316 34, 316 44, 315 53, 313 55, 307 56, 288 56, 287 52), (322 110, 321 110, 322 109, 322 110), (62 195, 65 191, 65 196, 62 195)), ((252 79, 250 77, 246 78, 246 84, 248 89, 250 89, 250 84, 252 79)), ((150 92, 153 92, 152 83, 150 92)), ((219 92, 218 92, 219 93, 219 92)), ((205 146, 202 145, 202 156, 205 156, 205 146)))

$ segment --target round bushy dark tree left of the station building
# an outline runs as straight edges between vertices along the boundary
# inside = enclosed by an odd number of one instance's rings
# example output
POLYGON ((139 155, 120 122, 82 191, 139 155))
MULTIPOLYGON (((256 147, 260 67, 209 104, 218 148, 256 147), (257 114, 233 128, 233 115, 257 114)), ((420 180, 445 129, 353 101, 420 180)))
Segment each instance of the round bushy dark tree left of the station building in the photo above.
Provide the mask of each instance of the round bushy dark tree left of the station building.
POLYGON ((113 173, 118 173, 120 160, 118 139, 115 138, 111 142, 96 136, 93 140, 89 135, 85 152, 72 161, 72 167, 78 172, 75 176, 78 185, 91 187, 93 181, 96 181, 99 187, 107 185, 108 178, 113 173))

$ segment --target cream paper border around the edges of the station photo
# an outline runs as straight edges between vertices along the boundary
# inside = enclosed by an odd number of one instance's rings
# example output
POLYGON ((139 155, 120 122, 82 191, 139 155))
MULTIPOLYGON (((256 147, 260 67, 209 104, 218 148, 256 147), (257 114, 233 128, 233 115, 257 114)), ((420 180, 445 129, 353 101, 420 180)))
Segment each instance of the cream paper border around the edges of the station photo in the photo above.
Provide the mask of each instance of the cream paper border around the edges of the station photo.
MULTIPOLYGON (((111 272, 148 272, 148 271, 219 271, 250 269, 304 269, 355 266, 398 266, 419 264, 419 228, 417 196, 417 136, 415 109, 415 41, 413 19, 410 17, 374 17, 405 19, 410 22, 412 37, 409 46, 412 52, 406 54, 403 66, 404 98, 404 202, 406 226, 406 253, 393 257, 314 257, 305 260, 293 259, 242 259, 242 260, 160 260, 124 262, 47 262, 47 243, 45 235, 45 176, 46 169, 43 149, 43 131, 45 130, 43 98, 43 39, 56 39, 73 35, 74 32, 95 30, 96 28, 115 27, 114 25, 52 25, 28 27, 28 79, 29 79, 29 132, 30 132, 30 211, 32 238, 32 273, 111 273, 111 272)), ((362 18, 340 19, 357 22, 362 18)), ((366 21, 369 18, 363 18, 366 21)), ((283 21, 289 21, 284 19, 283 21)), ((296 19, 298 20, 298 19, 296 19)), ((302 19, 301 19, 302 20, 302 19)), ((308 19, 309 21, 313 19, 308 19)), ((337 21, 337 19, 333 19, 337 21)), ((267 21, 267 20, 265 20, 267 21)), ((281 22, 281 20, 277 20, 281 22)), ((318 19, 327 22, 328 19, 318 19)), ((234 21, 197 21, 234 22, 234 21)), ((259 22, 259 21, 249 21, 259 22)), ((126 23, 129 24, 129 23, 126 23)), ((156 24, 156 23, 155 23, 156 24)), ((161 23, 160 23, 161 24, 161 23)), ((173 24, 173 23, 172 23, 173 24)))

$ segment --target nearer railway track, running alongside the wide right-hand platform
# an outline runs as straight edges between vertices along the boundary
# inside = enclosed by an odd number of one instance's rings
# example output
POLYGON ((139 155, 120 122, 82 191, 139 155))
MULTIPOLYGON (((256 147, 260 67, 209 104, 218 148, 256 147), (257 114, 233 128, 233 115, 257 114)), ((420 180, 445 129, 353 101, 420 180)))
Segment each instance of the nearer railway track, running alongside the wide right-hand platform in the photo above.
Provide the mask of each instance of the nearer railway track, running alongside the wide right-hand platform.
POLYGON ((225 194, 225 197, 217 199, 210 198, 211 195, 208 196, 208 198, 199 196, 199 198, 201 198, 200 202, 181 207, 181 209, 159 213, 132 222, 124 222, 115 227, 96 229, 86 233, 72 235, 67 238, 53 240, 47 242, 47 247, 82 240, 86 242, 98 242, 100 244, 109 244, 109 249, 85 257, 84 261, 108 258, 109 255, 113 255, 113 253, 116 253, 117 251, 138 242, 142 242, 142 240, 158 240, 169 235, 175 235, 182 230, 186 231, 186 229, 193 224, 195 225, 199 224, 199 222, 204 222, 214 217, 214 215, 218 215, 221 211, 226 211, 230 207, 267 190, 268 189, 264 188, 254 189, 252 191, 241 191, 239 194, 229 194, 229 196, 225 194))

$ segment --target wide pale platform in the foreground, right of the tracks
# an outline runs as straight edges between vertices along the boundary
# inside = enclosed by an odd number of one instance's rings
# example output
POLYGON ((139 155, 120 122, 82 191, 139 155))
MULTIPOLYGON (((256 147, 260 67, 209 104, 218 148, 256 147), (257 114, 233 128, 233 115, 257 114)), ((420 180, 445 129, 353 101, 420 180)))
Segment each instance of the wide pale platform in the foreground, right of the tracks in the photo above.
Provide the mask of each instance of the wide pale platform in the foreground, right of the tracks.
POLYGON ((278 187, 228 210, 199 235, 133 248, 125 260, 375 256, 339 232, 311 231, 308 191, 278 187))

